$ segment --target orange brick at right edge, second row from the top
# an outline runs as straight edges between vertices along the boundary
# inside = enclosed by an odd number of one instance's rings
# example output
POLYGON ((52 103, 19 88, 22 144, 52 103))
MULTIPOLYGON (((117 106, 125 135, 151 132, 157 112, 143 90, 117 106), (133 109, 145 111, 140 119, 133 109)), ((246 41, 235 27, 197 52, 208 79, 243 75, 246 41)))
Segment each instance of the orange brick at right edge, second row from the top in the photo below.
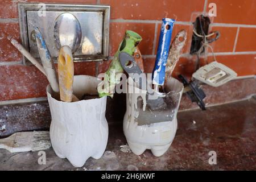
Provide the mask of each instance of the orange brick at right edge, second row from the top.
POLYGON ((256 51, 256 28, 240 28, 236 51, 256 51))

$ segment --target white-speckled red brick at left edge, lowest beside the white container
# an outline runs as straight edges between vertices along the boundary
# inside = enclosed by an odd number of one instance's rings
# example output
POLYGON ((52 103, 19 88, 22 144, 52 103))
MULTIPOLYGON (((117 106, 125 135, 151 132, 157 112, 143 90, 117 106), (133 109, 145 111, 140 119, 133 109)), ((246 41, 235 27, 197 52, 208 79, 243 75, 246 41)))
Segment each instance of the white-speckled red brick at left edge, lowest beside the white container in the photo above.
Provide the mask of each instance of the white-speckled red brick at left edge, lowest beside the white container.
POLYGON ((1 101, 46 96, 47 78, 34 66, 1 66, 0 74, 1 101))

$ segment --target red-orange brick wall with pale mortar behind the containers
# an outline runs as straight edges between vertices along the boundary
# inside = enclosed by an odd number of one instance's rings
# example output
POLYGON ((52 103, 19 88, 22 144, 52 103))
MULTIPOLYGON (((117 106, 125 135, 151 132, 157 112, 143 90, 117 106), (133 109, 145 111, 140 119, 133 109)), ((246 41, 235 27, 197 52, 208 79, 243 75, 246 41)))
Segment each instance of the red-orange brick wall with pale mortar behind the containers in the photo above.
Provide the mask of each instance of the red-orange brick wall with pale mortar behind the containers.
MULTIPOLYGON (((22 56, 10 44, 19 39, 18 2, 31 0, 2 0, 0 5, 0 101, 46 97, 46 77, 34 66, 22 64, 22 56)), ((176 19, 174 33, 185 28, 188 41, 177 64, 174 76, 191 76, 195 59, 189 55, 192 22, 197 15, 208 12, 208 4, 217 5, 217 16, 210 31, 218 30, 221 38, 212 43, 217 60, 228 65, 238 76, 256 73, 256 1, 255 0, 40 0, 36 2, 82 3, 111 6, 110 60, 122 40, 125 30, 138 32, 143 40, 139 48, 144 57, 146 72, 154 67, 161 19, 176 19)), ((209 53, 208 61, 213 57, 209 53)), ((75 63, 76 75, 97 76, 105 72, 110 61, 75 63)), ((202 61, 202 64, 204 61, 202 61)))

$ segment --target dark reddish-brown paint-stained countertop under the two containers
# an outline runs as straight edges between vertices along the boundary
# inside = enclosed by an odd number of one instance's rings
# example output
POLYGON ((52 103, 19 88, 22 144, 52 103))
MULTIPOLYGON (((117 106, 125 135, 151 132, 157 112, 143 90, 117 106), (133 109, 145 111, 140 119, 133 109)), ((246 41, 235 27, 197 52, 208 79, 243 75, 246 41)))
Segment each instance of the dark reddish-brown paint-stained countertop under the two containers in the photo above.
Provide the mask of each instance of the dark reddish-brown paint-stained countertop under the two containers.
POLYGON ((255 108, 256 100, 251 98, 209 107, 207 111, 179 112, 174 142, 160 157, 148 150, 140 156, 122 152, 120 146, 126 144, 126 139, 120 121, 109 123, 108 146, 102 158, 89 158, 84 167, 73 167, 50 148, 46 150, 46 165, 38 164, 38 152, 11 154, 0 150, 0 170, 255 170, 255 108), (217 154, 216 165, 208 163, 210 151, 217 154))

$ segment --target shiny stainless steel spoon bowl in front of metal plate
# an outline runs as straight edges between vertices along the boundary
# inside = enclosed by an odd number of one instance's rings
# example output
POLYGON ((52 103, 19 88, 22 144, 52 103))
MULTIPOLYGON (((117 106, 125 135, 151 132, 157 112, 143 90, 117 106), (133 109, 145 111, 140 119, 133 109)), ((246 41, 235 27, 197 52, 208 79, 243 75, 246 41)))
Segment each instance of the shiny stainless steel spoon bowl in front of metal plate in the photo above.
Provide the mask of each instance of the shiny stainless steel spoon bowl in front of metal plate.
POLYGON ((74 53, 82 39, 81 26, 76 16, 71 13, 60 14, 53 26, 53 37, 58 50, 62 46, 69 46, 74 53))

